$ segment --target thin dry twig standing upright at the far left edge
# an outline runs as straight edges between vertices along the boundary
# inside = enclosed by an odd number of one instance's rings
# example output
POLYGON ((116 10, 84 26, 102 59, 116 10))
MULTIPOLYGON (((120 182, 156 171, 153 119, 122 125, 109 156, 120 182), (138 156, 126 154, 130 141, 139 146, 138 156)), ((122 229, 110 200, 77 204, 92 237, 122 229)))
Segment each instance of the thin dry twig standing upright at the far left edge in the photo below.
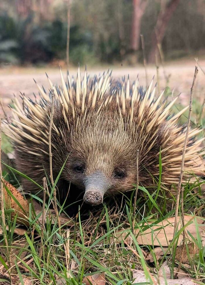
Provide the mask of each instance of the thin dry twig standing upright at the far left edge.
MULTIPOLYGON (((0 184, 1 184, 1 195, 0 195, 0 200, 1 200, 1 220, 2 220, 2 229, 3 229, 3 234, 4 234, 4 240, 5 240, 5 245, 6 245, 6 251, 7 255, 9 258, 9 249, 8 249, 8 240, 5 235, 6 231, 6 220, 5 220, 5 213, 4 213, 4 186, 3 186, 3 176, 2 176, 2 169, 1 169, 1 116, 0 116, 0 184)), ((9 258, 10 260, 10 258, 9 258)), ((10 262, 9 262, 10 266, 10 262)))

